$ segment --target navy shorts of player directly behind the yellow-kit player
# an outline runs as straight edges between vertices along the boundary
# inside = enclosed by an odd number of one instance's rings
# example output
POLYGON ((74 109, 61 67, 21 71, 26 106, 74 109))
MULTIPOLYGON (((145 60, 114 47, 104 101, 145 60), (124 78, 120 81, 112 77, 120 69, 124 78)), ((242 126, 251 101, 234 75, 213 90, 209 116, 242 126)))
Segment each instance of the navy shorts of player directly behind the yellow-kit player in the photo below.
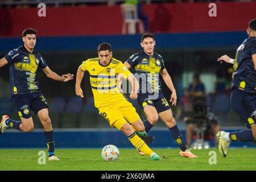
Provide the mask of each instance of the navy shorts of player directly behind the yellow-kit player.
POLYGON ((159 94, 157 98, 151 98, 150 94, 138 94, 138 103, 144 109, 146 105, 154 106, 158 113, 171 109, 168 101, 164 98, 163 94, 159 94))

